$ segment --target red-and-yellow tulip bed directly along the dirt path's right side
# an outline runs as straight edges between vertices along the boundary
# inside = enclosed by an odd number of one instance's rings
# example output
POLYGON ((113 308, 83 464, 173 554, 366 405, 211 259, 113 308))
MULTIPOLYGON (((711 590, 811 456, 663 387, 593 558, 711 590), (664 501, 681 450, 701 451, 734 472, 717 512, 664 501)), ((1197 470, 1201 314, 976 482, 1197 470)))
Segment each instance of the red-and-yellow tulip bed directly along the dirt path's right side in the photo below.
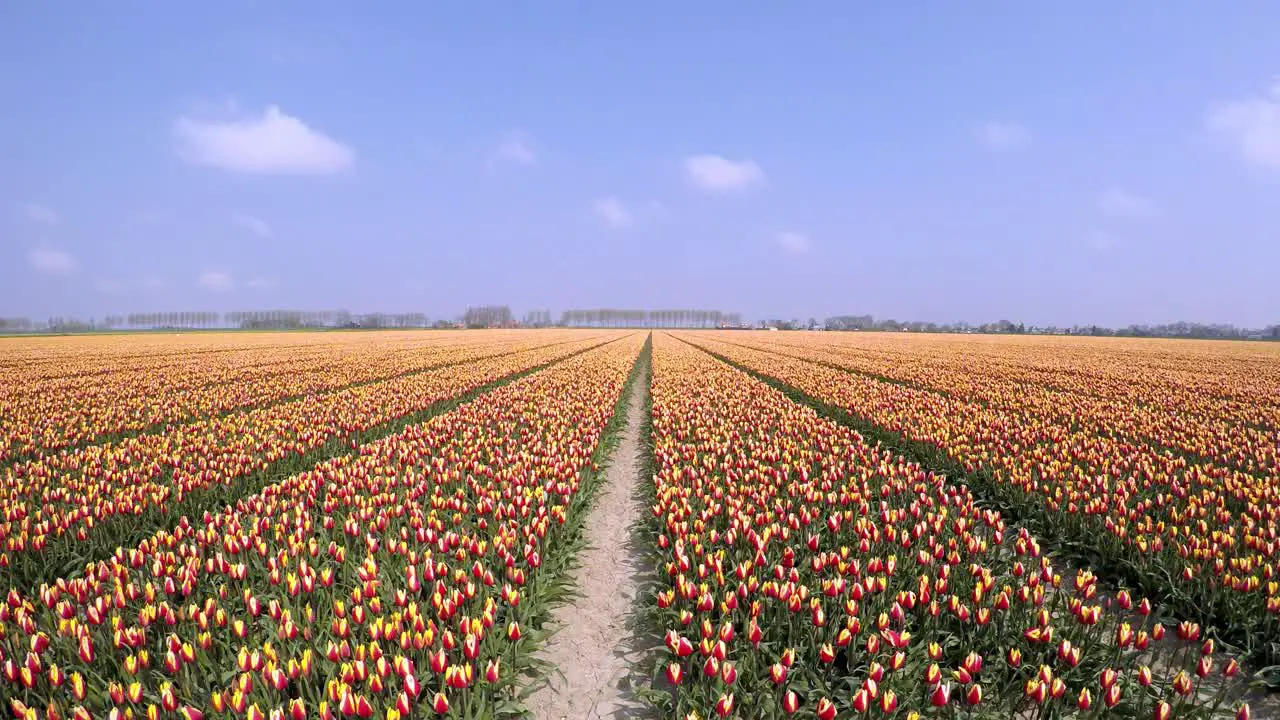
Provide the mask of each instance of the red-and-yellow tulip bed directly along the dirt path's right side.
POLYGON ((667 716, 1249 716, 1194 624, 667 336, 652 419, 667 716))

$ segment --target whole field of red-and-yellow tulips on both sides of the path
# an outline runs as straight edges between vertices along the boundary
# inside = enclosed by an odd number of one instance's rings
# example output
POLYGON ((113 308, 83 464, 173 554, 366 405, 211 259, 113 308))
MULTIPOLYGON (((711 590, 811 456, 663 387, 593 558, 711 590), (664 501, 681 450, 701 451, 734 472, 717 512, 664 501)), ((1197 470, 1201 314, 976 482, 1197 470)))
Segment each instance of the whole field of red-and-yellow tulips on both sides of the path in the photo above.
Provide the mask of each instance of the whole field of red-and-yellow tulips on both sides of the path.
POLYGON ((3 707, 543 717, 622 433, 654 717, 1280 707, 1276 346, 634 329, 0 338, 3 707))

